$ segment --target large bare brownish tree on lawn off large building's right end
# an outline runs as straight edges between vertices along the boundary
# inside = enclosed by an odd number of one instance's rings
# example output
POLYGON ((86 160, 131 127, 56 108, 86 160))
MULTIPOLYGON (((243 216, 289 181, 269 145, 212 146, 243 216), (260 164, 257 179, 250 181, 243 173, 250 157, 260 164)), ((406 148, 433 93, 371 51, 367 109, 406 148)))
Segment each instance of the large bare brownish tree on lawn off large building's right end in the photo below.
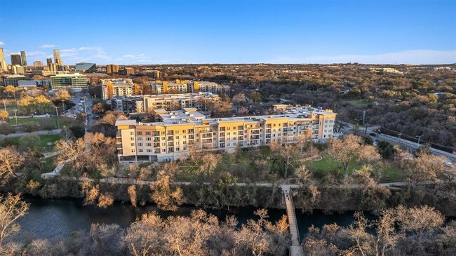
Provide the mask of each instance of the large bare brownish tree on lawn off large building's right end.
POLYGON ((380 159, 380 154, 374 146, 363 144, 361 137, 351 134, 344 135, 342 140, 330 140, 327 152, 340 164, 345 178, 349 175, 350 167, 354 169, 360 163, 380 159))

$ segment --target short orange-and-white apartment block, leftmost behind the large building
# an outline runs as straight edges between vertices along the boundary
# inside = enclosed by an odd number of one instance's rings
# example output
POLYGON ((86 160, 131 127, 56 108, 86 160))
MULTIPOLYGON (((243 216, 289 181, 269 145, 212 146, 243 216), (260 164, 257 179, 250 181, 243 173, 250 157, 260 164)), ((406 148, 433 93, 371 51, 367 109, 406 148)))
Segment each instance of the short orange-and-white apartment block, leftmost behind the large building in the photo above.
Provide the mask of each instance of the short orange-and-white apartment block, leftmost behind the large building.
POLYGON ((102 99, 111 100, 114 96, 140 95, 141 90, 131 79, 101 79, 102 99))

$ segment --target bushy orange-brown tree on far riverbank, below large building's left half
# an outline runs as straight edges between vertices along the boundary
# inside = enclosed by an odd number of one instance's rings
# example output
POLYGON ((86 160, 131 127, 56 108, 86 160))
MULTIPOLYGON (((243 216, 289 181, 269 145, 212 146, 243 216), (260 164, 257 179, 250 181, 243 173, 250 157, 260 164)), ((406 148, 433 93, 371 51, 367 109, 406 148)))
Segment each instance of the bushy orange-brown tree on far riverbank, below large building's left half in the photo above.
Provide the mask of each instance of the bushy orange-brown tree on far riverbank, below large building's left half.
POLYGON ((170 176, 166 175, 165 170, 159 171, 156 182, 150 187, 153 191, 151 197, 160 210, 176 211, 184 203, 182 189, 172 188, 170 176))

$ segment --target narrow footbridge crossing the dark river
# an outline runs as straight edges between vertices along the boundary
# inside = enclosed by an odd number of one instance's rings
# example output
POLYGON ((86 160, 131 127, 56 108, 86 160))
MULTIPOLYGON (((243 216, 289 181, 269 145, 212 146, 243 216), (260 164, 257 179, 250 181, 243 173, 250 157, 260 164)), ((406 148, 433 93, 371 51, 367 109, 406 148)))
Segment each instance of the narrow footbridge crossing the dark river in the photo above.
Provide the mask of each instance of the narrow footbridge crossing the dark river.
POLYGON ((293 204, 293 198, 291 196, 291 189, 296 186, 290 185, 281 185, 283 191, 283 198, 285 200, 285 205, 288 215, 288 224, 290 225, 290 234, 291 234, 291 246, 290 246, 290 256, 304 256, 304 251, 301 246, 300 231, 297 227, 295 205, 293 204))

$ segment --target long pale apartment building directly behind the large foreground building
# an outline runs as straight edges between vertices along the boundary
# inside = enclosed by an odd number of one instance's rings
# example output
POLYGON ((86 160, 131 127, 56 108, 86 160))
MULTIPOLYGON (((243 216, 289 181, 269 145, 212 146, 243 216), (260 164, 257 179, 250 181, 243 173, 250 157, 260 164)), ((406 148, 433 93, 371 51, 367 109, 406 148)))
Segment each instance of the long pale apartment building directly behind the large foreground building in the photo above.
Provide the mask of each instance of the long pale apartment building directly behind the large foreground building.
POLYGON ((196 108, 208 111, 220 97, 213 93, 181 93, 165 95, 114 96, 111 104, 114 110, 124 113, 152 113, 154 109, 177 110, 196 108))

